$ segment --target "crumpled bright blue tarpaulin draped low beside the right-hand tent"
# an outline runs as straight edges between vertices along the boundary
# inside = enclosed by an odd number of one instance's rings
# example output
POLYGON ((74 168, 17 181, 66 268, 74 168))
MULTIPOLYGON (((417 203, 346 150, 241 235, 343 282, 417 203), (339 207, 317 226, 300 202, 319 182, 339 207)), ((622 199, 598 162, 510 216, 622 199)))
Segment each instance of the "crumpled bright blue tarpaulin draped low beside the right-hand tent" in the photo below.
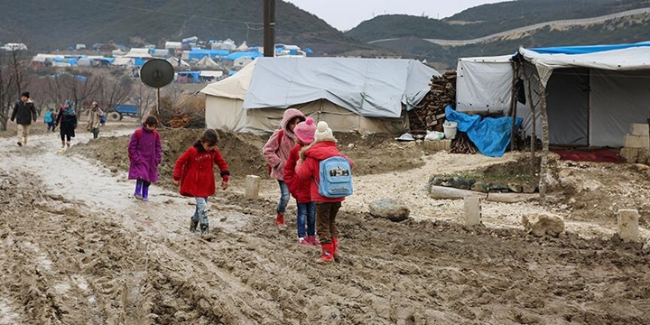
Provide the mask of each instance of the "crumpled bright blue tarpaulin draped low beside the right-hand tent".
MULTIPOLYGON (((506 153, 510 144, 510 128, 512 117, 486 117, 469 116, 453 110, 449 105, 445 107, 448 121, 458 123, 458 130, 465 132, 478 148, 480 153, 489 157, 500 157, 506 153)), ((515 130, 521 125, 522 118, 515 120, 515 130)))

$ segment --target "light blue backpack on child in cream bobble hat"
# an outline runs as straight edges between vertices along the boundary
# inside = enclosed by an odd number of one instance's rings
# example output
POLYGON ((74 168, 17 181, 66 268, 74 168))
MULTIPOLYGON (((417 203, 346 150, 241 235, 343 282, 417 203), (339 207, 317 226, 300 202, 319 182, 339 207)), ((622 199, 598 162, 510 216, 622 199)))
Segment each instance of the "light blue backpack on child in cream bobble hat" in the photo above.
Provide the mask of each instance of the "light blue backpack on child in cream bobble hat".
POLYGON ((352 167, 347 159, 333 156, 320 161, 319 194, 322 197, 337 199, 352 194, 352 167))

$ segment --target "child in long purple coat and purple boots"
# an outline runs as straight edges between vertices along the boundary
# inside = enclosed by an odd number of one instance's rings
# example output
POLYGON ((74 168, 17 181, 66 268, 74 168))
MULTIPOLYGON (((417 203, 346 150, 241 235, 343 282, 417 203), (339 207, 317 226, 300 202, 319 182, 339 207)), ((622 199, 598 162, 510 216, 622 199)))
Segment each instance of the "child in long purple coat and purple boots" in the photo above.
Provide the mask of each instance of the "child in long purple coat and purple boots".
POLYGON ((129 180, 135 181, 135 199, 149 200, 149 185, 158 181, 158 164, 162 160, 158 119, 147 116, 141 128, 131 135, 128 145, 129 180))

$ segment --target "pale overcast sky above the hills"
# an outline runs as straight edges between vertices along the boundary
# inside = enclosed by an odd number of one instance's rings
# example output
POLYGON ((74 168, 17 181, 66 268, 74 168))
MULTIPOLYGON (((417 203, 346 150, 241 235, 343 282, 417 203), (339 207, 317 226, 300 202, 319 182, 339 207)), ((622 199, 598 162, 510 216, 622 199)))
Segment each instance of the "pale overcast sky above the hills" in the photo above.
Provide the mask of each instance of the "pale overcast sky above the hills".
POLYGON ((347 31, 381 14, 427 15, 445 18, 477 5, 505 0, 285 0, 320 17, 334 28, 347 31))

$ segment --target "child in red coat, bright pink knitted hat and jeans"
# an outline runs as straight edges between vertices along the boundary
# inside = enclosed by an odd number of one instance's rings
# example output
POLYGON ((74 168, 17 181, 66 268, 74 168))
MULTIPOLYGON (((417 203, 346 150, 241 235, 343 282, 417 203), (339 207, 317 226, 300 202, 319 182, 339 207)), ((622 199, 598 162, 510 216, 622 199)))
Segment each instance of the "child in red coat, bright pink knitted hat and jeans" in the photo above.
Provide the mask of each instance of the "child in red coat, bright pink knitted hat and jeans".
POLYGON ((311 180, 301 180, 295 177, 295 165, 300 158, 300 151, 302 147, 313 142, 316 133, 313 118, 307 117, 304 122, 296 125, 293 128, 293 133, 297 145, 293 147, 286 163, 284 163, 284 182, 286 182, 289 192, 297 202, 296 227, 298 228, 298 244, 319 246, 319 242, 316 240, 316 204, 311 201, 311 180), (306 233, 305 226, 307 227, 306 233))

